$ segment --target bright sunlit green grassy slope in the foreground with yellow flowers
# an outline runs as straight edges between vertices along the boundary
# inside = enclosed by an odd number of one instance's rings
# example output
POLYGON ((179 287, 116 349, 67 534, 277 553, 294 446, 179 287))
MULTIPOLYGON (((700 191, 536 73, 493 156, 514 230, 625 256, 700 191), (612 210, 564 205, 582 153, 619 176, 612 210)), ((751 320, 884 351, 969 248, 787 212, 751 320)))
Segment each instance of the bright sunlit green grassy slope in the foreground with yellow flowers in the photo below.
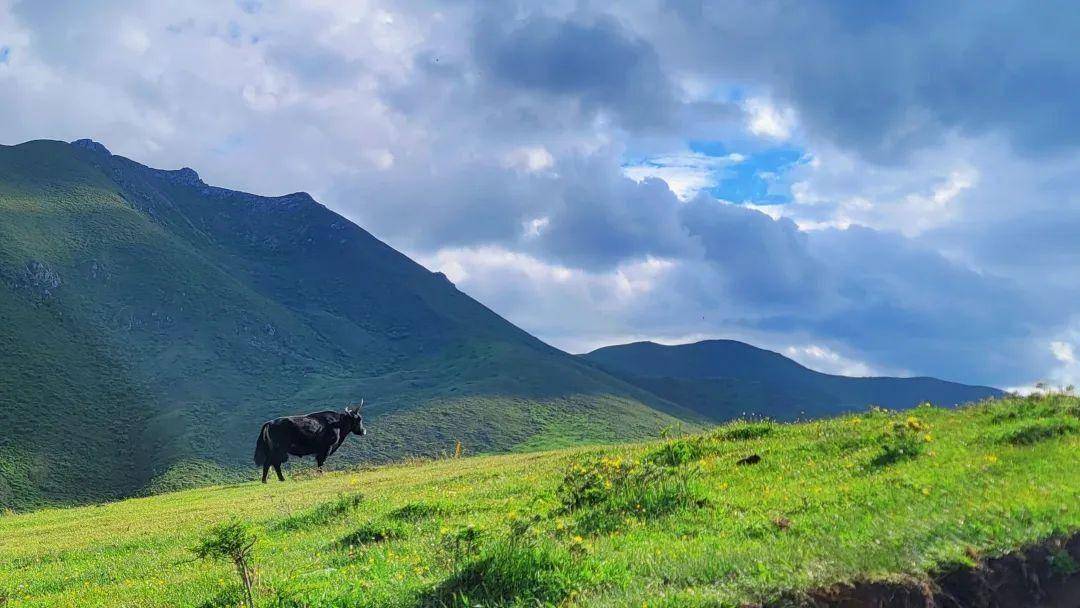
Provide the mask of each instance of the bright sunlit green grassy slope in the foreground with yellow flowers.
MULTIPOLYGON (((0 517, 0 592, 17 607, 235 606, 231 566, 189 550, 230 519, 257 538, 259 606, 787 605, 840 582, 931 589, 1080 531, 1078 449, 1080 400, 1056 395, 203 488, 0 517)), ((1080 543, 1044 546, 1027 571, 1075 582, 1080 543)))

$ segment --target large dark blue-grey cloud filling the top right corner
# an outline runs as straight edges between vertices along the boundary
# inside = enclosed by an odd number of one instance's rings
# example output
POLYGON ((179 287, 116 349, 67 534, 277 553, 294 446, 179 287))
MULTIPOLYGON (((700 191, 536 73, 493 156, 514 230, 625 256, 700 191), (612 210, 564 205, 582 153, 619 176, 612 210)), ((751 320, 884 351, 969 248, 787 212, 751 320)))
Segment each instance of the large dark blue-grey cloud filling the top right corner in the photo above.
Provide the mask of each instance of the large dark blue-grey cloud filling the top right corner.
POLYGON ((1074 2, 667 5, 677 18, 658 36, 680 66, 757 81, 809 130, 875 159, 950 129, 1002 131, 1026 152, 1080 144, 1074 2))

